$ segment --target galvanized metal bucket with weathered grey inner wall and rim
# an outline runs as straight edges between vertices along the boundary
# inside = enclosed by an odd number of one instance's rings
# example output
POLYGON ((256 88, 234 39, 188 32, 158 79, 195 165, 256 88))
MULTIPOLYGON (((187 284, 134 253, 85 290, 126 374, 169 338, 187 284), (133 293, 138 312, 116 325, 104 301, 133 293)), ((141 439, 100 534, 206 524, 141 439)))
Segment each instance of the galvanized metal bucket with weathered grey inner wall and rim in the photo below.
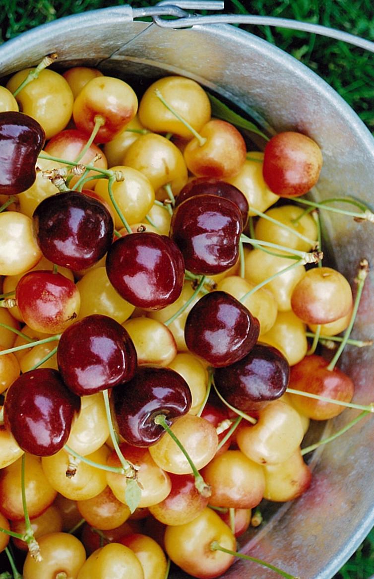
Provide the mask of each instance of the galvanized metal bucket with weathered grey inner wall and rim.
MULTIPOLYGON (((324 167, 314 197, 350 195, 372 204, 374 140, 351 108, 294 58, 224 24, 164 30, 134 21, 130 6, 71 16, 0 47, 1 74, 35 65, 57 52, 61 67, 91 65, 122 78, 180 74, 228 98, 266 130, 295 129, 322 148, 324 167)), ((148 80, 147 80, 148 83, 148 80)), ((338 269, 351 281, 360 258, 374 267, 373 225, 332 214, 325 218, 338 269)), ((355 335, 374 329, 374 275, 365 285, 355 335)), ((374 400, 372 349, 348 347, 341 367, 353 378, 355 401, 374 400)), ((338 430, 356 415, 329 424, 338 430)), ((302 579, 331 579, 374 525, 374 417, 317 451, 311 488, 283 505, 249 538, 245 550, 302 579)), ((175 572, 173 579, 185 577, 175 572)), ((274 578, 273 571, 237 562, 226 578, 274 578)))

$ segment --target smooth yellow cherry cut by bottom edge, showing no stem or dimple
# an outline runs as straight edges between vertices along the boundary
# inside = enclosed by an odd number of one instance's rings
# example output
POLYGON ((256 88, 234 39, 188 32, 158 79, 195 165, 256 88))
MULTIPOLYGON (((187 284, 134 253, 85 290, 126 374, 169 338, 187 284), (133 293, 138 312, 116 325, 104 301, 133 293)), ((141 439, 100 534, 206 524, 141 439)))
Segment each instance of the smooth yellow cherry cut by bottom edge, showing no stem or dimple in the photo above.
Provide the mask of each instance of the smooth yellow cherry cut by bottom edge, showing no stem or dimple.
POLYGON ((120 543, 109 543, 93 552, 76 579, 144 579, 140 560, 120 543))

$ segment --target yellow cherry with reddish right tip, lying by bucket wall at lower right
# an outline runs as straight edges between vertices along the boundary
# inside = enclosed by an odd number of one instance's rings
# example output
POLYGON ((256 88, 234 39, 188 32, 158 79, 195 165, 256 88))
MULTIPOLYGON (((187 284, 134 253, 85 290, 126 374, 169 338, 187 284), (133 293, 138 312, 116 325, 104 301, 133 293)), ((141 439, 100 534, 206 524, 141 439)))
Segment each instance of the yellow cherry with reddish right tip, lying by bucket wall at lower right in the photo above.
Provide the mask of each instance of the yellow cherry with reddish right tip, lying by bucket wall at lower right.
POLYGON ((284 462, 265 464, 265 492, 263 496, 270 501, 285 503, 297 499, 311 482, 311 471, 301 455, 300 449, 284 462))

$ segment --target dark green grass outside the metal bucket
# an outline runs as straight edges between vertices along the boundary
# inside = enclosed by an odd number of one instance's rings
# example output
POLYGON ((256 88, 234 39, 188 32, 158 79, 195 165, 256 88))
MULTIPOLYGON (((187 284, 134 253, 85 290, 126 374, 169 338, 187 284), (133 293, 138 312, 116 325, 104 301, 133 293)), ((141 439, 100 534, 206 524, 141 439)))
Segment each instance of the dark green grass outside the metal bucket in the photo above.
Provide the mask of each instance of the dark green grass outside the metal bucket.
MULTIPOLYGON (((1 0, 1 41, 56 18, 85 10, 130 3, 134 8, 150 2, 119 0, 1 0)), ((247 13, 249 2, 226 0, 226 13, 247 13)), ((372 0, 252 0, 252 14, 278 16, 324 24, 374 41, 372 0)), ((270 27, 243 27, 298 58, 322 76, 374 130, 374 54, 322 36, 270 27)), ((335 579, 368 579, 374 574, 374 530, 344 565, 335 579)))

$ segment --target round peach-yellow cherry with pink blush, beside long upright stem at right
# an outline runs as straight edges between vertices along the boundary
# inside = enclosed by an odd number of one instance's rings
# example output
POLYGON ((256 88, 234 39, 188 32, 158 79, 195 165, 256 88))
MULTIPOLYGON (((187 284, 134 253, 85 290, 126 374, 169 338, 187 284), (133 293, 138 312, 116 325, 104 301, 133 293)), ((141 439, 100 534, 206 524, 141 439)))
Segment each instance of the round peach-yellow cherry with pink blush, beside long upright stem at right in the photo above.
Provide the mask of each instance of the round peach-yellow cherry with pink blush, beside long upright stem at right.
POLYGON ((337 270, 313 267, 296 284, 291 306, 306 324, 328 324, 351 312, 351 287, 337 270))

